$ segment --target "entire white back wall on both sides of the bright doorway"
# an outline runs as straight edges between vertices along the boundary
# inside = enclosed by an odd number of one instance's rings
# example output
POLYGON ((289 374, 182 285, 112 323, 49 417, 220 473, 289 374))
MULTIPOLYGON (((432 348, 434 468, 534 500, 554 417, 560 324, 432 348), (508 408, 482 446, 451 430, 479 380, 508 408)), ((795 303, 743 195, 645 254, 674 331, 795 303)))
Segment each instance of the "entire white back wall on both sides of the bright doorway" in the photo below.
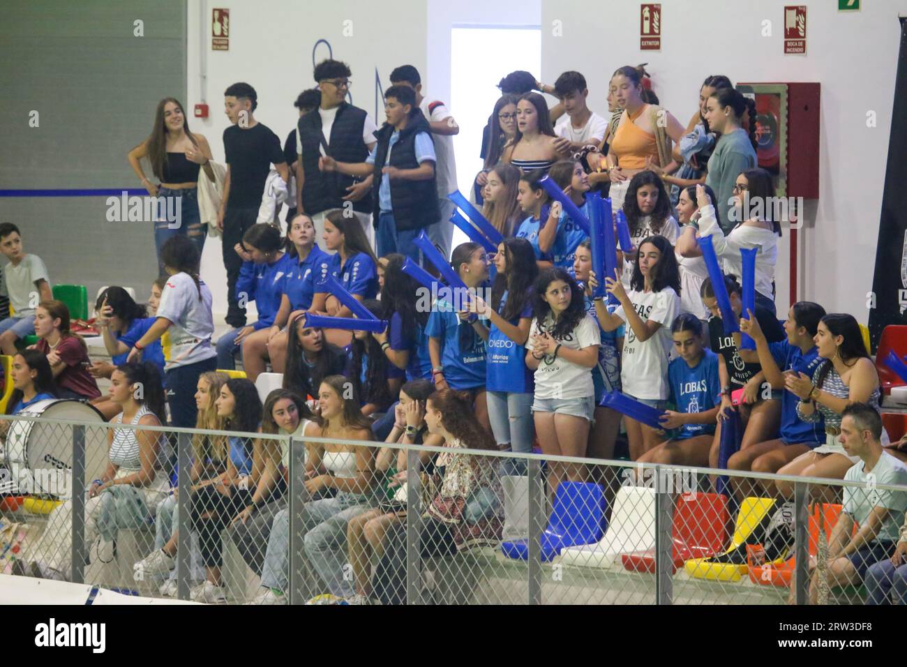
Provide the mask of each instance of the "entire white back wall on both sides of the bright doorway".
MULTIPOLYGON (((807 228, 800 234, 805 250, 799 294, 826 309, 866 319, 865 296, 872 289, 891 125, 900 34, 897 15, 907 12, 907 0, 864 2, 856 13, 838 13, 834 2, 807 3, 805 56, 783 54, 783 0, 755 4, 661 0, 660 52, 639 51, 639 2, 635 0, 600 4, 527 0, 519 5, 487 0, 403 0, 392 5, 365 0, 333 4, 270 0, 263 5, 233 0, 229 52, 210 51, 214 5, 208 0, 190 3, 186 103, 191 107, 202 96, 207 98, 212 118, 193 127, 209 136, 219 159, 223 157, 220 134, 227 126, 221 106, 224 88, 236 81, 254 85, 258 120, 283 140, 295 123, 293 100, 314 84, 312 47, 319 38, 331 43, 334 57, 350 64, 353 101, 370 113, 375 113, 375 66, 386 87, 391 69, 409 63, 422 73, 425 92, 450 103, 456 116, 463 102, 450 99, 453 25, 541 24, 541 78, 553 83, 561 72, 579 70, 589 82, 590 105, 599 113, 607 110, 604 98, 610 74, 623 64, 648 62, 661 102, 683 123, 696 111, 698 88, 708 74, 727 74, 735 83, 822 83, 821 198, 817 205, 807 206, 807 228), (203 45, 208 63, 204 90, 199 82, 200 13, 205 16, 203 45), (347 19, 353 22, 353 34, 345 37, 347 19), (772 36, 762 36, 765 19, 772 22, 772 36), (561 21, 562 36, 552 34, 555 20, 561 21), (874 128, 866 127, 868 111, 877 114, 874 128)), ((317 59, 326 56, 327 48, 319 46, 317 59)), ((494 66, 490 59, 488 67, 494 66)), ((380 109, 375 120, 379 124, 384 120, 380 109)), ((477 150, 473 147, 470 155, 477 150)), ((787 305, 786 267, 785 250, 777 271, 782 312, 787 305)), ((208 244, 202 273, 212 283, 215 310, 223 311, 226 278, 219 240, 208 244)))

